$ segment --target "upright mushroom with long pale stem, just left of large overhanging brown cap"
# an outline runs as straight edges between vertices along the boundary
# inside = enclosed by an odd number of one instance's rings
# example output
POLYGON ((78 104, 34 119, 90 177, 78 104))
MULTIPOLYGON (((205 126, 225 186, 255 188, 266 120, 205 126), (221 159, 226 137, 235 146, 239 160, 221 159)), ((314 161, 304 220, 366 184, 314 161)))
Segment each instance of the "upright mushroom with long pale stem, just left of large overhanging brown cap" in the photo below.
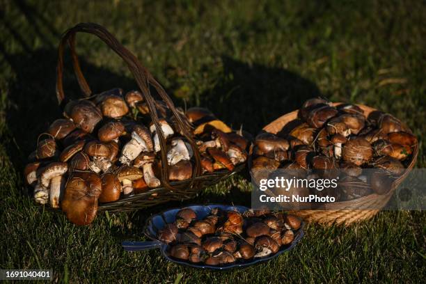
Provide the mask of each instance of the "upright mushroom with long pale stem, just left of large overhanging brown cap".
POLYGON ((68 171, 65 162, 53 162, 47 165, 40 173, 40 184, 45 189, 49 188, 49 203, 52 208, 59 207, 59 200, 63 195, 65 178, 63 175, 68 171))

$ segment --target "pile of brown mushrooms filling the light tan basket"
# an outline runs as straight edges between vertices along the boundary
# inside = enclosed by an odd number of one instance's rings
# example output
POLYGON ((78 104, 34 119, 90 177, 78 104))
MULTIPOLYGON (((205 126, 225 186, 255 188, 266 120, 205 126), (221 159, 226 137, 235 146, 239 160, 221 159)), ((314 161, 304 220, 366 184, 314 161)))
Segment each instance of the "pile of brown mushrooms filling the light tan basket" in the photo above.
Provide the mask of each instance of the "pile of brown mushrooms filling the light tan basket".
POLYGON ((407 168, 416 144, 411 130, 388 113, 366 116, 355 104, 335 107, 313 98, 280 132, 255 138, 252 173, 283 168, 310 179, 339 180, 336 190, 297 189, 302 196, 329 194, 344 201, 386 194, 407 168))

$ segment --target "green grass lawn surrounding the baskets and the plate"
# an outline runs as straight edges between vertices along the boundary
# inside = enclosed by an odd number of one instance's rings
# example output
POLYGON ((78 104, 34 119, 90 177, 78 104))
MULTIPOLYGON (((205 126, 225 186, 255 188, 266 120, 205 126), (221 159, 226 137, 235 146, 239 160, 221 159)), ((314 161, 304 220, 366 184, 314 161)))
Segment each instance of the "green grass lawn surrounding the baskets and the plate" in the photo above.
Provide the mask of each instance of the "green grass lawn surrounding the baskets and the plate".
MULTIPOLYGON (((413 129, 417 167, 426 166, 423 1, 236 2, 0 0, 0 269, 53 269, 55 281, 65 283, 424 283, 423 212, 380 212, 349 228, 309 224, 287 255, 216 272, 166 262, 159 251, 120 247, 123 239, 143 239, 147 216, 182 203, 100 214, 83 228, 33 206, 22 169, 38 134, 61 116, 56 45, 78 22, 106 26, 177 105, 208 107, 255 134, 309 97, 368 104, 413 129)), ((92 90, 135 88, 100 40, 80 35, 77 46, 92 90)), ((65 63, 65 90, 78 97, 70 58, 65 63)), ((185 204, 212 202, 250 206, 246 175, 185 204)))

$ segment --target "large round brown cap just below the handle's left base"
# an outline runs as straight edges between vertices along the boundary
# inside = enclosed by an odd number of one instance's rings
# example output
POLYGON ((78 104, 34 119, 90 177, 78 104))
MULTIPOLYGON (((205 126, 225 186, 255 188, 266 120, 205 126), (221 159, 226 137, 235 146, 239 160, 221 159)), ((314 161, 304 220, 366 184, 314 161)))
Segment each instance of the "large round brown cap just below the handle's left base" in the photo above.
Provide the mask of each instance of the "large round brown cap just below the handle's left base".
POLYGON ((84 132, 92 133, 97 123, 102 120, 102 113, 92 102, 81 100, 72 107, 70 118, 84 132))

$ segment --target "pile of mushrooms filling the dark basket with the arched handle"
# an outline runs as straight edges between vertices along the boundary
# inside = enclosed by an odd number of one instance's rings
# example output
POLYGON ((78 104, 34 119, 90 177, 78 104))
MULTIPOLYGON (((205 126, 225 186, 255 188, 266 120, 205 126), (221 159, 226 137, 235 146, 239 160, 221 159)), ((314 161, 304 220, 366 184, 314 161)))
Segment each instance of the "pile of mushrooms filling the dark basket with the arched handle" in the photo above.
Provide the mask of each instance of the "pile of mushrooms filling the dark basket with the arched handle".
MULTIPOLYGON (((183 137, 171 110, 155 101, 167 144, 169 180, 191 178, 194 150, 183 137)), ((247 140, 203 108, 180 120, 191 130, 202 155, 203 173, 232 171, 246 161, 247 140)), ((161 182, 159 134, 139 91, 116 88, 90 99, 68 102, 64 118, 41 134, 24 169, 37 203, 61 208, 78 225, 91 223, 97 203, 138 194, 161 182)))

